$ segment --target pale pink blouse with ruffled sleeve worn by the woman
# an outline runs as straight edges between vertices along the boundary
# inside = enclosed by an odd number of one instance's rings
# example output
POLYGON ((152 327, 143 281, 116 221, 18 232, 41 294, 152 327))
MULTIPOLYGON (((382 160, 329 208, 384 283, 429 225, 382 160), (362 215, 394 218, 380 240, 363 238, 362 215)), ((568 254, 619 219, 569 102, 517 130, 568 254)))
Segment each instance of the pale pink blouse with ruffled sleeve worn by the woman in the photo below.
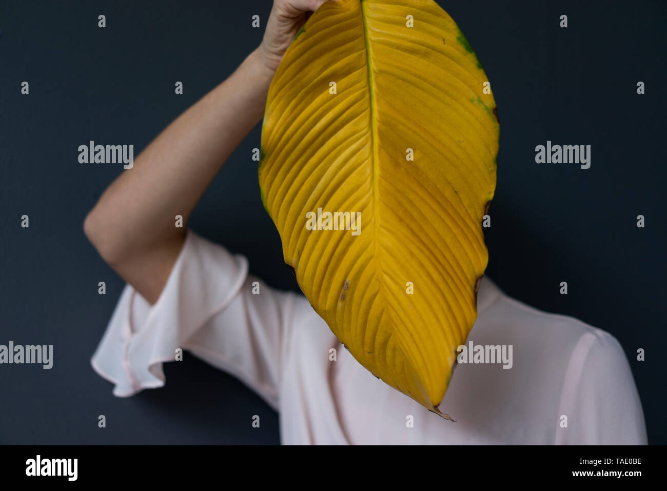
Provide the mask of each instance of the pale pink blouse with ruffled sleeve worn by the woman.
POLYGON ((275 408, 283 444, 646 444, 628 360, 607 332, 484 277, 470 342, 512 346, 512 368, 457 364, 440 404, 450 422, 368 372, 304 296, 188 229, 153 306, 125 286, 91 364, 126 397, 163 386, 163 362, 188 350, 275 408))

